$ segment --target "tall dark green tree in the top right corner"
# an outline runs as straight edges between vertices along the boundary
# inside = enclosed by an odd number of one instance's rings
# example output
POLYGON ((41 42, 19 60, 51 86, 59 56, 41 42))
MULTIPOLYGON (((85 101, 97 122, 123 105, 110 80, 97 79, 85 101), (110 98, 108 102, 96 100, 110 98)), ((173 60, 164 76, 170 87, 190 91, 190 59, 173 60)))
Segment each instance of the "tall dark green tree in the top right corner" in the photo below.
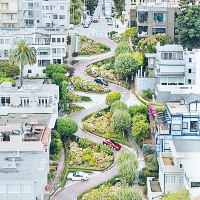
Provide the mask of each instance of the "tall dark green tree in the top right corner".
POLYGON ((181 0, 177 33, 184 48, 200 47, 200 5, 195 0, 181 0))

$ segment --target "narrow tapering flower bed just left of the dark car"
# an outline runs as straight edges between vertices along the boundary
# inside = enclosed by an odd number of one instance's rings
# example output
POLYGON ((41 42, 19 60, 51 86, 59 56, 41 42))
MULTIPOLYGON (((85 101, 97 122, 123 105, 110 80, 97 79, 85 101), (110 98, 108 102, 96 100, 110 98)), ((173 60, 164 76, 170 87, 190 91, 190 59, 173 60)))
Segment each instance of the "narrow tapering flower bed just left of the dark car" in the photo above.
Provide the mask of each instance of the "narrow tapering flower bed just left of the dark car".
POLYGON ((110 89, 104 85, 73 76, 71 82, 75 90, 94 93, 107 93, 110 89))

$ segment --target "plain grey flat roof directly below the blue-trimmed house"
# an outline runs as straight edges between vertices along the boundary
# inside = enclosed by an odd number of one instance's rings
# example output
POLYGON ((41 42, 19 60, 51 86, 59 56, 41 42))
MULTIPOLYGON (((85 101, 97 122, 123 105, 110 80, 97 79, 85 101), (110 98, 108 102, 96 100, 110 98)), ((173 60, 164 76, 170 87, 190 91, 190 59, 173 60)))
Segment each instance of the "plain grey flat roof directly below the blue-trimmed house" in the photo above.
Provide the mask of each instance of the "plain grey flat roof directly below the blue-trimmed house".
POLYGON ((177 152, 199 152, 200 140, 173 140, 177 152))

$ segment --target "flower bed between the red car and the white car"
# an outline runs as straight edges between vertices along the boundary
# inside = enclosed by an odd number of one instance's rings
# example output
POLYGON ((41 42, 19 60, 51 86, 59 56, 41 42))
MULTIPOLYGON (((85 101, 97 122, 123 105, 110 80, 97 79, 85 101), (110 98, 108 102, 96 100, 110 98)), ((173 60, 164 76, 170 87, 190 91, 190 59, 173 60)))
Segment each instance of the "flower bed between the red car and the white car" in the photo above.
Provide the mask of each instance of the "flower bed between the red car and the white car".
MULTIPOLYGON (((84 142, 85 143, 85 142, 84 142)), ((102 144, 81 145, 71 142, 69 145, 70 168, 102 170, 109 167, 113 161, 112 149, 102 144), (85 147, 85 148, 84 148, 85 147)))

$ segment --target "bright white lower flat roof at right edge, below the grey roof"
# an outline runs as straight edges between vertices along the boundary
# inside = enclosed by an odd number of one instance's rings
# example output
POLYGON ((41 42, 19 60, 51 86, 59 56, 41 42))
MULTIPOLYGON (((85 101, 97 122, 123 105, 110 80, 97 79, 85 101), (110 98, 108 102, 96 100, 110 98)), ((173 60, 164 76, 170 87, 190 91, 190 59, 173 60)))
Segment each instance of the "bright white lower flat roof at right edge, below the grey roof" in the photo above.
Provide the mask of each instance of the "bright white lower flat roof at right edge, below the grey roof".
POLYGON ((187 177, 200 178, 199 159, 181 159, 181 164, 187 177))

